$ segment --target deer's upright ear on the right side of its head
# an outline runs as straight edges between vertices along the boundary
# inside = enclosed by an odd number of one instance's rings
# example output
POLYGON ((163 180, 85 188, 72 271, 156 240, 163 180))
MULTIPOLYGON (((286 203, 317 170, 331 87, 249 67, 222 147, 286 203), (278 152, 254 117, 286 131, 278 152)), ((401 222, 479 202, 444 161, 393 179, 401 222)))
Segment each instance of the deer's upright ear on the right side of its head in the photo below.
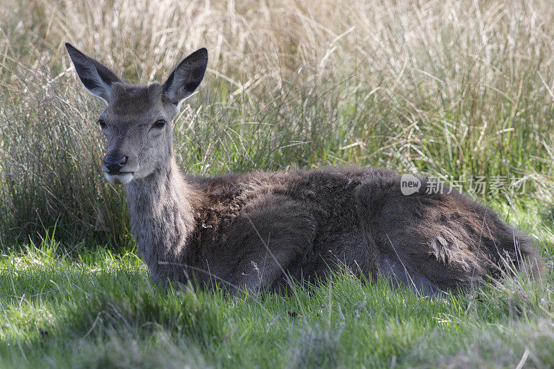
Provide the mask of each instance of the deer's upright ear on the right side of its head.
POLYGON ((207 64, 206 48, 201 48, 184 58, 163 84, 163 91, 168 100, 179 105, 181 100, 188 98, 202 82, 207 64))

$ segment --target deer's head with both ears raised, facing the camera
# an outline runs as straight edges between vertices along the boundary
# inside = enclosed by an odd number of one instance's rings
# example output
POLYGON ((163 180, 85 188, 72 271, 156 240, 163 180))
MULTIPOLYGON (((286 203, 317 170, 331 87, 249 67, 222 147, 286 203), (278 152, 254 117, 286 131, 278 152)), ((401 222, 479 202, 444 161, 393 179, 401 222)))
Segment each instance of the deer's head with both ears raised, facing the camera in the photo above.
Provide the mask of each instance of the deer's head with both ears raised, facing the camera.
POLYGON ((107 138, 102 171, 108 181, 126 184, 166 168, 173 156, 172 125, 181 101, 204 78, 208 51, 201 48, 182 60, 166 82, 127 84, 106 66, 65 44, 79 78, 107 107, 98 125, 107 138))

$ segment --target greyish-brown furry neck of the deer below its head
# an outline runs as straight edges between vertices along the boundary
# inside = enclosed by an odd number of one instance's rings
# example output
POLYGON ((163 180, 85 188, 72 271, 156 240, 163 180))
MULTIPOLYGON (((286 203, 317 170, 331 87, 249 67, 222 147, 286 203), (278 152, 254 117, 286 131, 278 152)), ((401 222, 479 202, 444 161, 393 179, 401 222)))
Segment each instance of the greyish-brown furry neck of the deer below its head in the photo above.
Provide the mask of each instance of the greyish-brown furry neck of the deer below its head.
POLYGON ((179 265, 193 257, 188 243, 195 231, 193 186, 184 179, 175 158, 150 176, 126 185, 131 232, 137 250, 154 280, 170 278, 182 271, 179 265))

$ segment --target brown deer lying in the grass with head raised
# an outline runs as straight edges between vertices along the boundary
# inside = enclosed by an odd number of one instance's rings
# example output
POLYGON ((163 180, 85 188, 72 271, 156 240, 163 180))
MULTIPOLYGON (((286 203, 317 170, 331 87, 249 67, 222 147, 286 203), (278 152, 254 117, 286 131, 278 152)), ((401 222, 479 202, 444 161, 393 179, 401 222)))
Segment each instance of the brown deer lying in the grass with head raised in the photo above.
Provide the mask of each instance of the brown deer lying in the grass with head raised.
POLYGON ((184 176, 171 121, 204 78, 206 49, 164 84, 136 86, 66 48, 84 87, 107 102, 98 119, 108 141, 102 170, 125 185, 132 234, 156 282, 274 290, 346 266, 435 296, 512 266, 542 269, 526 235, 464 195, 428 191, 426 179, 403 195, 399 176, 375 168, 184 176))

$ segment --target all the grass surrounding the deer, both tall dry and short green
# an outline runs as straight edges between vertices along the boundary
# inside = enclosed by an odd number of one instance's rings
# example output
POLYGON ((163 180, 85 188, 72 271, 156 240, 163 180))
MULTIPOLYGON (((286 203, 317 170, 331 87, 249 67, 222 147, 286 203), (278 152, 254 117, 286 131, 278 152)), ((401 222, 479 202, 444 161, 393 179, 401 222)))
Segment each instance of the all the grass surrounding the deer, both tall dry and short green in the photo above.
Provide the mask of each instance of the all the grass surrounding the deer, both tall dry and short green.
POLYGON ((3 3, 0 366, 553 365, 550 1, 305 4, 3 3), (287 297, 154 289, 123 191, 100 174, 102 106, 66 41, 142 83, 208 48, 175 123, 188 172, 357 163, 439 177, 537 240, 544 283, 446 300, 346 271, 287 297))

